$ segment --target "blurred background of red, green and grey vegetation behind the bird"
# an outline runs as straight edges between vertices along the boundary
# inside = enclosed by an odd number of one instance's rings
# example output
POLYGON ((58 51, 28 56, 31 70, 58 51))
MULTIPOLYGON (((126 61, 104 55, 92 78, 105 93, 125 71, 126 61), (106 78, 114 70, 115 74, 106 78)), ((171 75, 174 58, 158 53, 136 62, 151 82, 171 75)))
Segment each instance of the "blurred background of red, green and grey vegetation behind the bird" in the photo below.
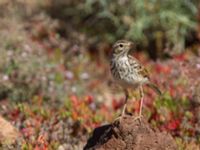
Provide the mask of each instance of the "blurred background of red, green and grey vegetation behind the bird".
MULTIPOLYGON (((21 134, 2 147, 82 149, 119 116, 109 54, 119 39, 163 91, 145 88, 144 116, 180 149, 200 146, 198 0, 0 0, 0 111, 21 134)), ((137 113, 133 90, 128 111, 137 113)))

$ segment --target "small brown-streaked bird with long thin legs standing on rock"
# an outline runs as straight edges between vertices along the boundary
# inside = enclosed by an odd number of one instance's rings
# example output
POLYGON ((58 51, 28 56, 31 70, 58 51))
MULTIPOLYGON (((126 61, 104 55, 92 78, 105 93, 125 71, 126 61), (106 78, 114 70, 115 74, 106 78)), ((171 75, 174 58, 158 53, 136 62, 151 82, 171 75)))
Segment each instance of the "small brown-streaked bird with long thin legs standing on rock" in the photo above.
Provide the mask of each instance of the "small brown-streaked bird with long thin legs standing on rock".
POLYGON ((134 47, 135 44, 132 41, 118 40, 115 42, 111 51, 110 71, 114 81, 123 88, 125 93, 125 101, 120 118, 125 115, 129 98, 128 89, 139 89, 141 99, 139 115, 136 119, 140 120, 144 101, 143 85, 152 88, 158 95, 162 93, 159 88, 151 82, 147 69, 135 57, 129 54, 130 50, 134 47))

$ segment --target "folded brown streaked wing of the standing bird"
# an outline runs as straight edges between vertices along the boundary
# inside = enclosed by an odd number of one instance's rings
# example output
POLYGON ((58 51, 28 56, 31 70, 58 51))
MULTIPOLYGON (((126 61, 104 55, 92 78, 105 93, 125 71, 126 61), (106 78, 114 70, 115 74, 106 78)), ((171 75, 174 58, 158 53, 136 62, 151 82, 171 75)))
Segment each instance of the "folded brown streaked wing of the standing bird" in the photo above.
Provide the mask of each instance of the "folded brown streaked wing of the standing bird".
POLYGON ((149 79, 150 77, 149 77, 149 73, 148 73, 147 69, 144 66, 142 66, 139 63, 139 61, 136 58, 134 58, 133 56, 129 55, 128 57, 129 57, 130 65, 133 66, 133 68, 137 71, 137 73, 139 75, 141 75, 142 77, 149 79))

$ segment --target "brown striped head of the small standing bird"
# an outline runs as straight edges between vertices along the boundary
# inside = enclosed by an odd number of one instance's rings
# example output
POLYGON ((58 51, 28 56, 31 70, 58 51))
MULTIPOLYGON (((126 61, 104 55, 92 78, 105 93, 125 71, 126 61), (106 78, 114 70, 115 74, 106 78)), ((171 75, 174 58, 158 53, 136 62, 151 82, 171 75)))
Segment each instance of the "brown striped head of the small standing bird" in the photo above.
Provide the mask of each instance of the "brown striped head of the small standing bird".
POLYGON ((127 40, 119 40, 113 45, 112 54, 117 56, 127 55, 133 47, 133 42, 127 40))

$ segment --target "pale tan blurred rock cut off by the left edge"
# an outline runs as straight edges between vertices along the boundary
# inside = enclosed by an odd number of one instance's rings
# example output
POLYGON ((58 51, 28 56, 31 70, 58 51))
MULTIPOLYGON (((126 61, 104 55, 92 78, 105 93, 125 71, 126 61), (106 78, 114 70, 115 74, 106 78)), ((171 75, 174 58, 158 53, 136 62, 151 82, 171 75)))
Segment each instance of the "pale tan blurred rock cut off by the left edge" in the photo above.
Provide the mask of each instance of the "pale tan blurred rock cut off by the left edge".
POLYGON ((17 129, 0 116, 0 144, 13 144, 19 135, 17 129))

